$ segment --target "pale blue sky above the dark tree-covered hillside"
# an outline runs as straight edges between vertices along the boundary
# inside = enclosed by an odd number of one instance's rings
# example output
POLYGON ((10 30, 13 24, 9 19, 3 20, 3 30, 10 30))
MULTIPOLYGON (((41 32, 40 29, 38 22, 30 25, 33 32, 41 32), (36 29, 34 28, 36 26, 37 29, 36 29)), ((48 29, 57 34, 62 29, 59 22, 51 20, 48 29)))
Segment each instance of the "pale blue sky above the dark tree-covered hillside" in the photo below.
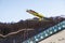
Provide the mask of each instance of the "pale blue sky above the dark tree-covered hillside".
POLYGON ((11 23, 32 18, 26 10, 50 16, 65 15, 65 0, 0 0, 0 22, 11 23))

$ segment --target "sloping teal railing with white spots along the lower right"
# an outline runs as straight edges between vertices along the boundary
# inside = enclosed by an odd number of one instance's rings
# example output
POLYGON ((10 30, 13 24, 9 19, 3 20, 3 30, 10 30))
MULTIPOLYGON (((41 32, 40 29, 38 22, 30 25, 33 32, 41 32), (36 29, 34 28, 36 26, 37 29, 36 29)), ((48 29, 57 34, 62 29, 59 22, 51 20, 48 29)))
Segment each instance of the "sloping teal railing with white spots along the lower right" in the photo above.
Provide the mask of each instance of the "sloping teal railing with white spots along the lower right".
POLYGON ((62 31, 65 29, 65 20, 38 33, 37 35, 32 37, 32 38, 29 38, 28 40, 24 41, 23 43, 36 43, 36 42, 39 42, 41 40, 44 40, 46 38, 58 32, 58 31, 62 31))

